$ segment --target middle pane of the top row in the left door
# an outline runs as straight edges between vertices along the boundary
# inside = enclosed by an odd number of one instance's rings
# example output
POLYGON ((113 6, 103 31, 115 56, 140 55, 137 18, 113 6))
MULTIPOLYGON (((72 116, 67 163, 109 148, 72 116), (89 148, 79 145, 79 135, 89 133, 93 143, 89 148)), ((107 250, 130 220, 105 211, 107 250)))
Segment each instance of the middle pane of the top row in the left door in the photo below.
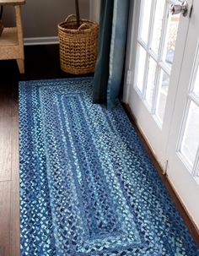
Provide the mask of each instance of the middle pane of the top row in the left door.
POLYGON ((151 49, 157 55, 159 52, 159 42, 160 42, 162 26, 163 26, 164 5, 165 5, 165 0, 159 0, 157 1, 156 8, 155 8, 155 18, 154 18, 154 25, 153 25, 151 49))

